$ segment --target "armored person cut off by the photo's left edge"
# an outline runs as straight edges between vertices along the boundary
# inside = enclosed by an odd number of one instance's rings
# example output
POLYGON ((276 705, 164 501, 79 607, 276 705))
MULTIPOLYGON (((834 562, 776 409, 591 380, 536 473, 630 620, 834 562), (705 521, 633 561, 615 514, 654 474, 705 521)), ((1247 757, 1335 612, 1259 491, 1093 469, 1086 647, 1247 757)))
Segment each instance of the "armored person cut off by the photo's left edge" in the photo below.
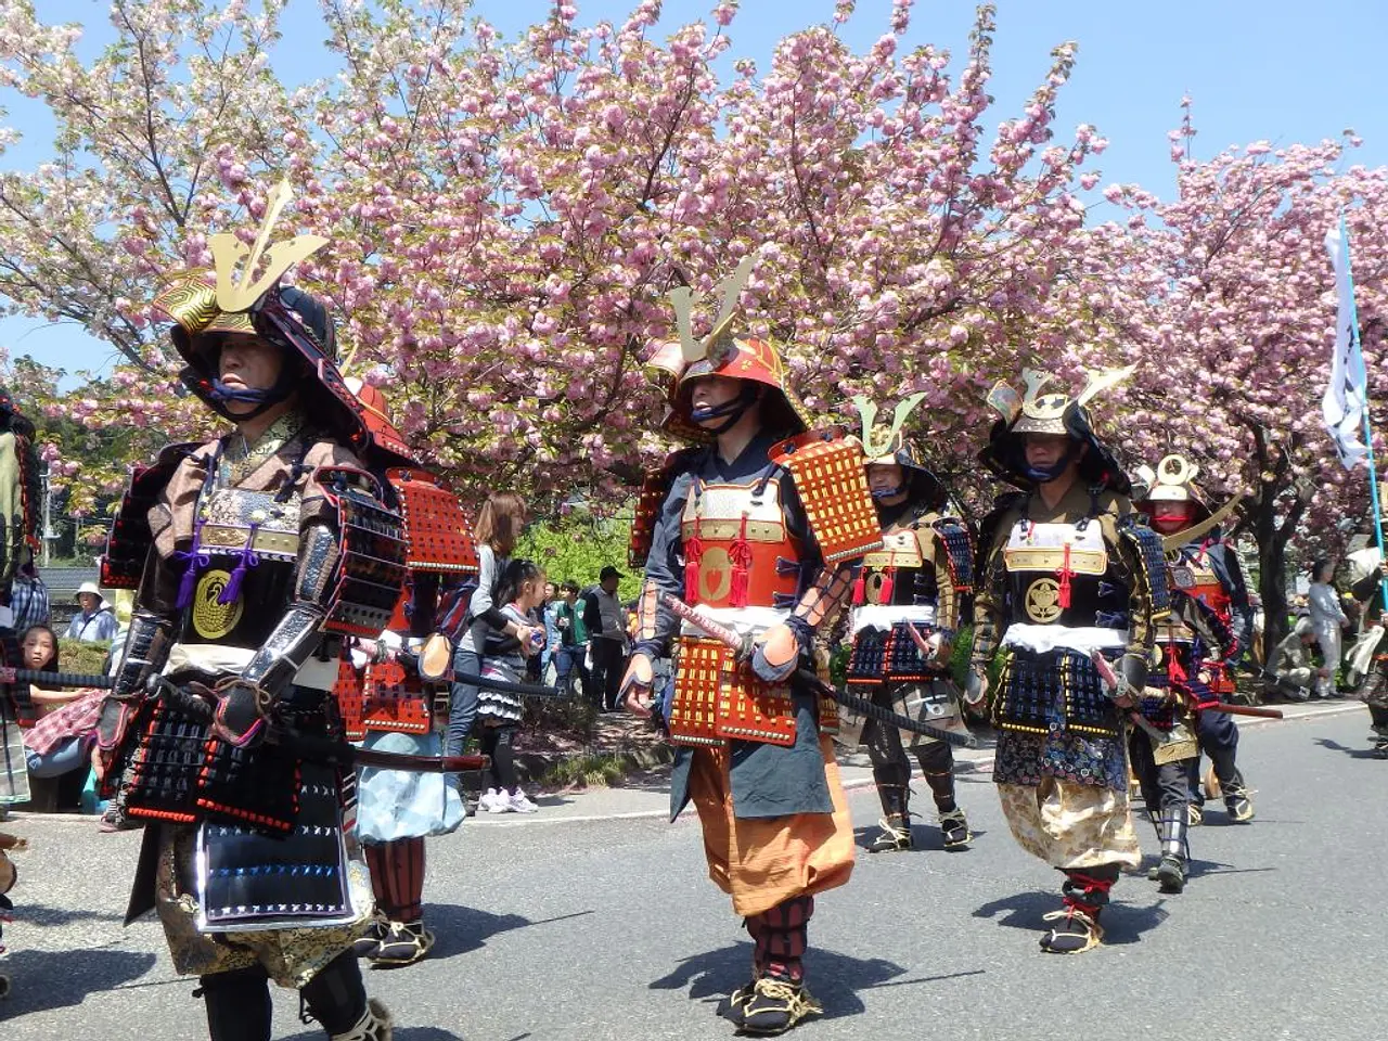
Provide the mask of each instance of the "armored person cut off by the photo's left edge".
MULTIPOLYGON (((17 625, 10 605, 15 572, 33 566, 37 536, 39 459, 33 423, 0 387, 0 665, 21 665, 17 625)), ((29 799, 21 730, 37 719, 28 684, 0 684, 0 808, 29 799)))

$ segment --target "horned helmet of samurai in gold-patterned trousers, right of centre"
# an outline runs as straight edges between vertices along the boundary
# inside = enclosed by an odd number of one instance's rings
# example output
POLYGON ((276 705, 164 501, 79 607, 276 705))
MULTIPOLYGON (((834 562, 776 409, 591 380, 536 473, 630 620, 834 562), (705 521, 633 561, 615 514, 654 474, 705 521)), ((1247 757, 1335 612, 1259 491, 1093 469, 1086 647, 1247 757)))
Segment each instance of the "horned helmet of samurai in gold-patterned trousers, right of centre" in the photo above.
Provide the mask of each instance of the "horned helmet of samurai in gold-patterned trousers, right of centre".
MULTIPOLYGON (((1024 396, 998 380, 988 391, 987 403, 1002 418, 992 425, 988 446, 979 452, 979 459, 1004 480, 1030 490, 1056 475, 1041 473, 1027 465, 1024 434, 1065 434, 1074 443, 1074 451, 1080 446, 1087 447, 1080 458, 1080 476, 1088 484, 1127 494, 1131 482, 1113 452, 1094 433, 1085 405, 1127 379, 1134 368, 1091 371, 1084 389, 1073 397, 1063 390, 1048 390, 1055 378, 1037 369, 1022 371, 1024 396)), ((1070 458, 1073 455, 1067 454, 1062 462, 1067 464, 1070 458)))

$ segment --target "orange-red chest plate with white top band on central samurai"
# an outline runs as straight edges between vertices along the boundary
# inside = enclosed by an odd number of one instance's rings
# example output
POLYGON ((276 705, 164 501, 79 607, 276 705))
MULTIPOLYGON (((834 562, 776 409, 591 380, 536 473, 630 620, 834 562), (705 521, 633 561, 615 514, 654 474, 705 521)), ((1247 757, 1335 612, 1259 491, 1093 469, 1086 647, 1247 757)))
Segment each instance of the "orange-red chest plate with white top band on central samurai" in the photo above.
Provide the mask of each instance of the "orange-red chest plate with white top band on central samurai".
POLYGON ((684 504, 680 539, 688 602, 775 608, 794 604, 799 543, 786 530, 775 480, 759 491, 756 483, 700 486, 684 504))

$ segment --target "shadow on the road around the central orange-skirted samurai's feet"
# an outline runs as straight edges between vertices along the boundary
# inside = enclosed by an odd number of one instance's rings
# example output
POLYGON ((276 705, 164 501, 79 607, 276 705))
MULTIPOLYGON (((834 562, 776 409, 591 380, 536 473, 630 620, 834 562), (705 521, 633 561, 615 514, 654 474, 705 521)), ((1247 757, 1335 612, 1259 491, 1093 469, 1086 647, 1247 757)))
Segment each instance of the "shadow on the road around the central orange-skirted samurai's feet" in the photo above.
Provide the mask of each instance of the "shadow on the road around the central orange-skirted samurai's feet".
MULTIPOLYGON (((719 951, 686 958, 670 973, 651 983, 650 988, 673 991, 688 987, 691 999, 716 1002, 718 1015, 722 1016, 727 1012, 727 995, 747 983, 751 962, 752 945, 733 944, 719 951)), ((899 980, 905 972, 895 962, 883 958, 849 958, 824 948, 813 948, 805 956, 809 990, 824 1004, 826 1019, 863 1012, 865 1005, 858 991, 954 979, 954 976, 931 976, 899 980)), ((973 974, 977 973, 955 973, 955 976, 973 974)))

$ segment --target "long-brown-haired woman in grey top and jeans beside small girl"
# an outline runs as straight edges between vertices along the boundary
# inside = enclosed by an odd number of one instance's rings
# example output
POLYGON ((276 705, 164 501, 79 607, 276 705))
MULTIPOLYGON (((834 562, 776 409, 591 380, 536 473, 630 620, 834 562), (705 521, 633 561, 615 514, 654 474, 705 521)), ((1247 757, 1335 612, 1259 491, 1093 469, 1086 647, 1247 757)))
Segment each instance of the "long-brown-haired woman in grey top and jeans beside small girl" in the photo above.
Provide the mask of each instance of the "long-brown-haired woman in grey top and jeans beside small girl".
MULTIPOLYGON (((543 636, 544 630, 530 625, 523 616, 502 613, 497 600, 501 576, 511 562, 511 552, 523 526, 525 500, 514 491, 494 491, 477 511, 477 523, 473 529, 477 540, 477 589, 468 601, 466 625, 454 651, 455 673, 482 675, 482 652, 489 636, 516 638, 526 657, 539 650, 534 645, 534 634, 543 636)), ((462 747, 477 718, 477 694, 476 683, 454 682, 444 755, 462 755, 462 747)))

